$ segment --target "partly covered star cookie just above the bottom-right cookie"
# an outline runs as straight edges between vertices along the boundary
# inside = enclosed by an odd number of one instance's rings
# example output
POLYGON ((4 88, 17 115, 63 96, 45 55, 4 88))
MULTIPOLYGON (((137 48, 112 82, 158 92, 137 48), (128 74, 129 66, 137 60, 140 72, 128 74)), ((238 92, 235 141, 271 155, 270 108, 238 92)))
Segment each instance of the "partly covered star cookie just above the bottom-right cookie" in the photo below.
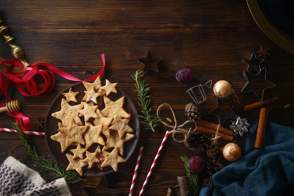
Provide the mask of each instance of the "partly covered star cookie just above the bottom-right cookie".
POLYGON ((120 154, 123 156, 123 143, 126 141, 129 141, 130 139, 134 137, 135 135, 126 133, 123 136, 123 138, 120 139, 120 135, 118 131, 110 130, 110 138, 107 138, 105 142, 105 146, 102 148, 102 150, 108 150, 112 147, 118 147, 120 154))

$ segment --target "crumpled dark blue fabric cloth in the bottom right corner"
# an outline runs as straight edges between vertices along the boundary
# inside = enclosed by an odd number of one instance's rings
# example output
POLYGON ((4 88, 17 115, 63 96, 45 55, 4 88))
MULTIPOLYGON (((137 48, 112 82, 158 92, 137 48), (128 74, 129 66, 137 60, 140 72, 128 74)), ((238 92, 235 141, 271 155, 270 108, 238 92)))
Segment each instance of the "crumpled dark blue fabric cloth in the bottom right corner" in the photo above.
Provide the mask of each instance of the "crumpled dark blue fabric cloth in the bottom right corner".
POLYGON ((268 122, 265 147, 255 148, 255 138, 245 136, 243 156, 211 176, 199 196, 294 196, 294 129, 268 122))

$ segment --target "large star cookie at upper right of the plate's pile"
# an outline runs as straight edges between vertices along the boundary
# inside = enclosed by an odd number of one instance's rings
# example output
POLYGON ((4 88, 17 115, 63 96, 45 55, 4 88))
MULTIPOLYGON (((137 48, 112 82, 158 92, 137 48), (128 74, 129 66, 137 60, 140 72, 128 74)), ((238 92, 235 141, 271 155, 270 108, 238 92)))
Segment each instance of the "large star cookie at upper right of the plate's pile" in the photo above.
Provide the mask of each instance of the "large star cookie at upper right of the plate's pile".
POLYGON ((131 115, 123 109, 124 96, 118 99, 117 101, 112 101, 110 100, 110 98, 107 98, 106 96, 103 96, 103 99, 105 103, 105 108, 101 111, 103 116, 113 117, 116 115, 117 117, 123 119, 131 117, 131 115))

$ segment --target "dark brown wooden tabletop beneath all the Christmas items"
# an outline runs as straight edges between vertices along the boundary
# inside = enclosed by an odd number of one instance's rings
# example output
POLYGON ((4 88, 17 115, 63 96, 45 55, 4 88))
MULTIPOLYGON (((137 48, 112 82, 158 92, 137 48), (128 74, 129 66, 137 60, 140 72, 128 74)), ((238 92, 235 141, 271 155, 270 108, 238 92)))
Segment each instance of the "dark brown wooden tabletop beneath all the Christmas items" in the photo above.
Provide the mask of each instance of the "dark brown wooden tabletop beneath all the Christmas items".
MULTIPOLYGON (((263 66, 267 78, 276 87, 265 91, 265 98, 279 96, 279 101, 269 105, 269 119, 294 127, 293 109, 284 106, 293 102, 294 58, 273 44, 254 22, 245 0, 1 0, 0 12, 10 35, 25 49, 30 63, 47 62, 81 79, 89 78, 101 68, 100 54, 104 53, 107 67, 103 80, 118 82, 134 102, 134 81, 131 74, 142 69, 137 61, 150 49, 163 61, 159 73, 147 73, 145 79, 151 85, 151 106, 168 102, 172 104, 180 122, 185 121, 184 107, 192 99, 186 90, 208 80, 213 83, 227 80, 238 96, 234 112, 252 123, 259 110, 243 112, 243 106, 257 99, 253 94, 241 94, 245 85, 243 59, 261 46, 270 47, 270 56, 263 66), (192 68, 196 79, 193 83, 181 84, 175 73, 183 67, 192 68)), ((11 58, 8 46, 0 39, 0 56, 11 58)), ((3 72, 3 68, 0 68, 3 72)), ((16 69, 17 70, 17 69, 16 69)), ((9 89, 13 99, 22 103, 22 112, 31 121, 44 117, 52 100, 74 82, 56 76, 56 86, 46 97, 24 97, 15 85, 9 89)), ((199 105, 204 120, 217 123, 217 118, 208 111, 216 107, 211 89, 206 91, 208 101, 199 105)), ((1 101, 6 102, 3 96, 1 101)), ((140 110, 136 104, 137 109, 140 110)), ((14 119, 0 114, 0 127, 11 128, 14 119)), ((226 123, 225 126, 228 126, 226 123)), ((156 133, 142 128, 138 147, 132 158, 117 173, 107 175, 112 188, 121 189, 127 195, 132 179, 139 146, 144 153, 135 185, 138 195, 149 167, 167 129, 158 126, 156 133)), ((39 131, 43 131, 42 128, 39 131)), ((254 136, 252 136, 254 137, 254 136)), ((28 136, 30 144, 40 154, 53 159, 43 137, 28 136)), ((239 139, 242 143, 241 139, 239 139)), ((221 145, 226 144, 221 141, 221 145)), ((0 163, 7 156, 14 156, 30 168, 37 170, 50 181, 49 174, 42 172, 26 154, 22 143, 14 133, 0 133, 0 163)), ((148 182, 145 195, 165 195, 169 186, 177 184, 176 176, 185 175, 180 155, 196 154, 169 138, 148 182)), ((200 156, 205 158, 205 153, 200 156)), ((221 157, 221 156, 220 156, 221 157)), ((222 163, 229 164, 222 158, 222 163)), ((204 172, 200 178, 207 177, 204 172)), ((74 196, 85 195, 84 185, 95 185, 99 177, 70 186, 74 196)))

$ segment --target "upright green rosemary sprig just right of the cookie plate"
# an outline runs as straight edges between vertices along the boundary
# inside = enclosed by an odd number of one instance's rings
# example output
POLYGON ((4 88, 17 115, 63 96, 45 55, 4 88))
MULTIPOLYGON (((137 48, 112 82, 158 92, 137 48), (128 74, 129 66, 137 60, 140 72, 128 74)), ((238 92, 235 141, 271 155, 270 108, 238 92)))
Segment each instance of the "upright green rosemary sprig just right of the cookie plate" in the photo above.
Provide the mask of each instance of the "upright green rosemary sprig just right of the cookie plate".
POLYGON ((151 115, 152 109, 149 108, 149 103, 150 103, 150 97, 148 95, 148 91, 151 88, 149 84, 145 83, 145 80, 141 80, 141 77, 143 76, 143 72, 138 70, 134 75, 131 75, 132 78, 136 81, 135 87, 136 87, 136 92, 138 93, 138 99, 139 99, 139 106, 142 108, 142 116, 139 115, 139 117, 143 120, 140 121, 140 123, 144 124, 144 127, 146 129, 150 129, 153 132, 155 132, 154 128, 157 126, 157 123, 159 120, 151 115))

